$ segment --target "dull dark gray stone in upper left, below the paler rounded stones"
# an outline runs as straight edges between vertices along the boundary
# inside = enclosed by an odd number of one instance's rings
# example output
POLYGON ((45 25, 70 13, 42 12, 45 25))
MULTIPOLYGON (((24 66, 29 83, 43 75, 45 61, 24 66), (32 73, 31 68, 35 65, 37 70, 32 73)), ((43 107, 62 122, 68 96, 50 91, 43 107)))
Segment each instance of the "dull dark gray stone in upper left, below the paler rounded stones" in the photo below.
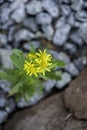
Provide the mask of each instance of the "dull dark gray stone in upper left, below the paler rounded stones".
POLYGON ((23 21, 24 27, 31 30, 32 32, 38 31, 38 25, 36 24, 34 17, 28 17, 23 21))

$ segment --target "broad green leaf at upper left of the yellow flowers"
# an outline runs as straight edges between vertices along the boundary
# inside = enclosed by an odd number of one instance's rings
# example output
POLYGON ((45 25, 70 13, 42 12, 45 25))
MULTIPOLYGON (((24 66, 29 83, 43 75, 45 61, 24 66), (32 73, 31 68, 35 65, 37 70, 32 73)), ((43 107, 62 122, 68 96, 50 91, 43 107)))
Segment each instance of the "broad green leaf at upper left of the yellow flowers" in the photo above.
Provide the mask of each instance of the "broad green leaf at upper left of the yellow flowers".
POLYGON ((21 50, 14 49, 11 55, 11 60, 15 67, 22 69, 25 61, 25 56, 21 50))

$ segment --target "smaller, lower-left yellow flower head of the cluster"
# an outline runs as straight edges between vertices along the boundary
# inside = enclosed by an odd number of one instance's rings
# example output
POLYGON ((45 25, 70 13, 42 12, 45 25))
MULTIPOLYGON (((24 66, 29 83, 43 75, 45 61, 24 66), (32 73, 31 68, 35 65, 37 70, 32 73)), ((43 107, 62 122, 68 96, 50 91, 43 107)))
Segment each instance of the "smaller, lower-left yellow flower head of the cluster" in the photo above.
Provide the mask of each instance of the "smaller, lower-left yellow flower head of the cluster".
POLYGON ((24 70, 26 71, 26 74, 31 75, 35 75, 36 77, 37 75, 37 68, 35 68, 35 65, 31 62, 25 61, 24 64, 24 70))

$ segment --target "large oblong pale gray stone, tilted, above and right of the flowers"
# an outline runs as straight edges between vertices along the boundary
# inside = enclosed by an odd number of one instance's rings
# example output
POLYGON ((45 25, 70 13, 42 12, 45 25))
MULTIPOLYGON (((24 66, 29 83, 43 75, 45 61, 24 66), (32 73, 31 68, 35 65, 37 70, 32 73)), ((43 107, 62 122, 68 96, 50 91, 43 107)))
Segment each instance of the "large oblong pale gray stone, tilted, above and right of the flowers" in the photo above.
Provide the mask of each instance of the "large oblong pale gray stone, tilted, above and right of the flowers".
POLYGON ((71 26, 69 24, 65 24, 62 27, 57 28, 56 32, 54 33, 53 43, 59 46, 64 45, 64 43, 68 39, 70 29, 71 26))

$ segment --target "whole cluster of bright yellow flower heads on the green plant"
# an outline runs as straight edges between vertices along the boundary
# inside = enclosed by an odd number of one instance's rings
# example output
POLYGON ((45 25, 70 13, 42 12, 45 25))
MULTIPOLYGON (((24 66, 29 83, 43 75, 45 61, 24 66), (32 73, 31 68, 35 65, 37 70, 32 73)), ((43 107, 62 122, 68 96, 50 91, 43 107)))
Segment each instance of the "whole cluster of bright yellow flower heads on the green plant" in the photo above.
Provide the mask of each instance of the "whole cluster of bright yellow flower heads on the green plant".
POLYGON ((25 61, 24 70, 28 75, 38 74, 45 75, 46 71, 50 71, 50 66, 52 65, 52 56, 47 54, 46 49, 44 51, 39 50, 37 53, 29 53, 28 60, 25 61))

